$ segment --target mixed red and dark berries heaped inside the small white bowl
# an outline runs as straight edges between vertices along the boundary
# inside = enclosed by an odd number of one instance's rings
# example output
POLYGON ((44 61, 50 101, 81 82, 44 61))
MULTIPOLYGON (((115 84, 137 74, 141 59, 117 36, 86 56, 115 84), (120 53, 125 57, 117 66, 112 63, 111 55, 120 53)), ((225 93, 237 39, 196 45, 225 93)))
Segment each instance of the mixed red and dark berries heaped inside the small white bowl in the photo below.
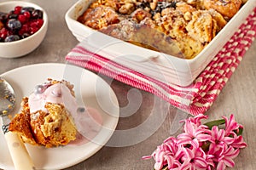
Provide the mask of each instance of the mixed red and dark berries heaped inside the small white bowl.
POLYGON ((44 12, 33 7, 16 6, 0 12, 0 42, 14 42, 36 33, 44 24, 44 12))

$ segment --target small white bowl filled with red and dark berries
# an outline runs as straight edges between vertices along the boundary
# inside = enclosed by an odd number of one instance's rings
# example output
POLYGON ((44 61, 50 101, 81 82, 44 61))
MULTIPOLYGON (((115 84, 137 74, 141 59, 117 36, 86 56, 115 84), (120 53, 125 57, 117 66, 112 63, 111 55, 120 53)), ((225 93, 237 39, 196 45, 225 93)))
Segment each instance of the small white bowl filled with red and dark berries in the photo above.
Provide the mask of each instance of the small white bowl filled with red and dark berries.
POLYGON ((48 16, 34 3, 0 3, 0 57, 17 58, 31 53, 44 40, 48 16))

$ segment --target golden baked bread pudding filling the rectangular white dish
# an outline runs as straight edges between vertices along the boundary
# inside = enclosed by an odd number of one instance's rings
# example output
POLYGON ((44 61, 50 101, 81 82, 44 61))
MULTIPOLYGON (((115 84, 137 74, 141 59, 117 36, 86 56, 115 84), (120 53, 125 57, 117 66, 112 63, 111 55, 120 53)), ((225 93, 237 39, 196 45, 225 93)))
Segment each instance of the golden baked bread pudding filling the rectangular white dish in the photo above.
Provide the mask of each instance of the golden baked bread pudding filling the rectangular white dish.
POLYGON ((193 59, 243 0, 96 0, 78 21, 125 42, 193 59))

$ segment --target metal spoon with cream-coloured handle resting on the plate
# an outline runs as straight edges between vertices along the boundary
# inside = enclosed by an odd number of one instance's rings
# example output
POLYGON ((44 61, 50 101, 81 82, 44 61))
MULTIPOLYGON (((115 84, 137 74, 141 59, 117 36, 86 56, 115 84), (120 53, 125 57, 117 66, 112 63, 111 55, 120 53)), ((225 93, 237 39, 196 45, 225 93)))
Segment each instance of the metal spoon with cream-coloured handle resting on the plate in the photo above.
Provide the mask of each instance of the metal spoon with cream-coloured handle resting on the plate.
POLYGON ((15 91, 0 77, 0 116, 3 121, 3 133, 8 144, 9 152, 16 170, 35 169, 25 145, 16 133, 9 132, 9 122, 12 111, 15 108, 15 91))

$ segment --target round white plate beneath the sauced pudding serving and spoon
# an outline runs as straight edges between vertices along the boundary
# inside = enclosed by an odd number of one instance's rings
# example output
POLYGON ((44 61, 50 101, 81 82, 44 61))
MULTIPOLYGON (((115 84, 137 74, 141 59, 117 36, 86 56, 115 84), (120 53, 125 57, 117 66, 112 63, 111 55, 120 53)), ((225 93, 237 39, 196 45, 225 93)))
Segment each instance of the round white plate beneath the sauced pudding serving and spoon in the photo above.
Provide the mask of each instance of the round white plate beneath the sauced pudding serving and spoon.
MULTIPOLYGON (((62 169, 84 161, 100 150, 113 134, 119 120, 119 104, 112 88, 101 77, 83 68, 65 64, 26 65, 1 75, 15 89, 17 103, 15 112, 20 110, 23 96, 32 93, 33 88, 47 78, 65 79, 74 84, 80 105, 93 107, 103 118, 102 130, 90 142, 81 145, 67 144, 63 147, 44 148, 26 144, 37 169, 62 169), (80 95, 81 94, 81 95, 80 95)), ((0 121, 2 127, 2 122, 0 121)), ((2 130, 1 130, 2 131, 2 130)), ((0 133, 0 168, 14 169, 3 133, 0 133)))

